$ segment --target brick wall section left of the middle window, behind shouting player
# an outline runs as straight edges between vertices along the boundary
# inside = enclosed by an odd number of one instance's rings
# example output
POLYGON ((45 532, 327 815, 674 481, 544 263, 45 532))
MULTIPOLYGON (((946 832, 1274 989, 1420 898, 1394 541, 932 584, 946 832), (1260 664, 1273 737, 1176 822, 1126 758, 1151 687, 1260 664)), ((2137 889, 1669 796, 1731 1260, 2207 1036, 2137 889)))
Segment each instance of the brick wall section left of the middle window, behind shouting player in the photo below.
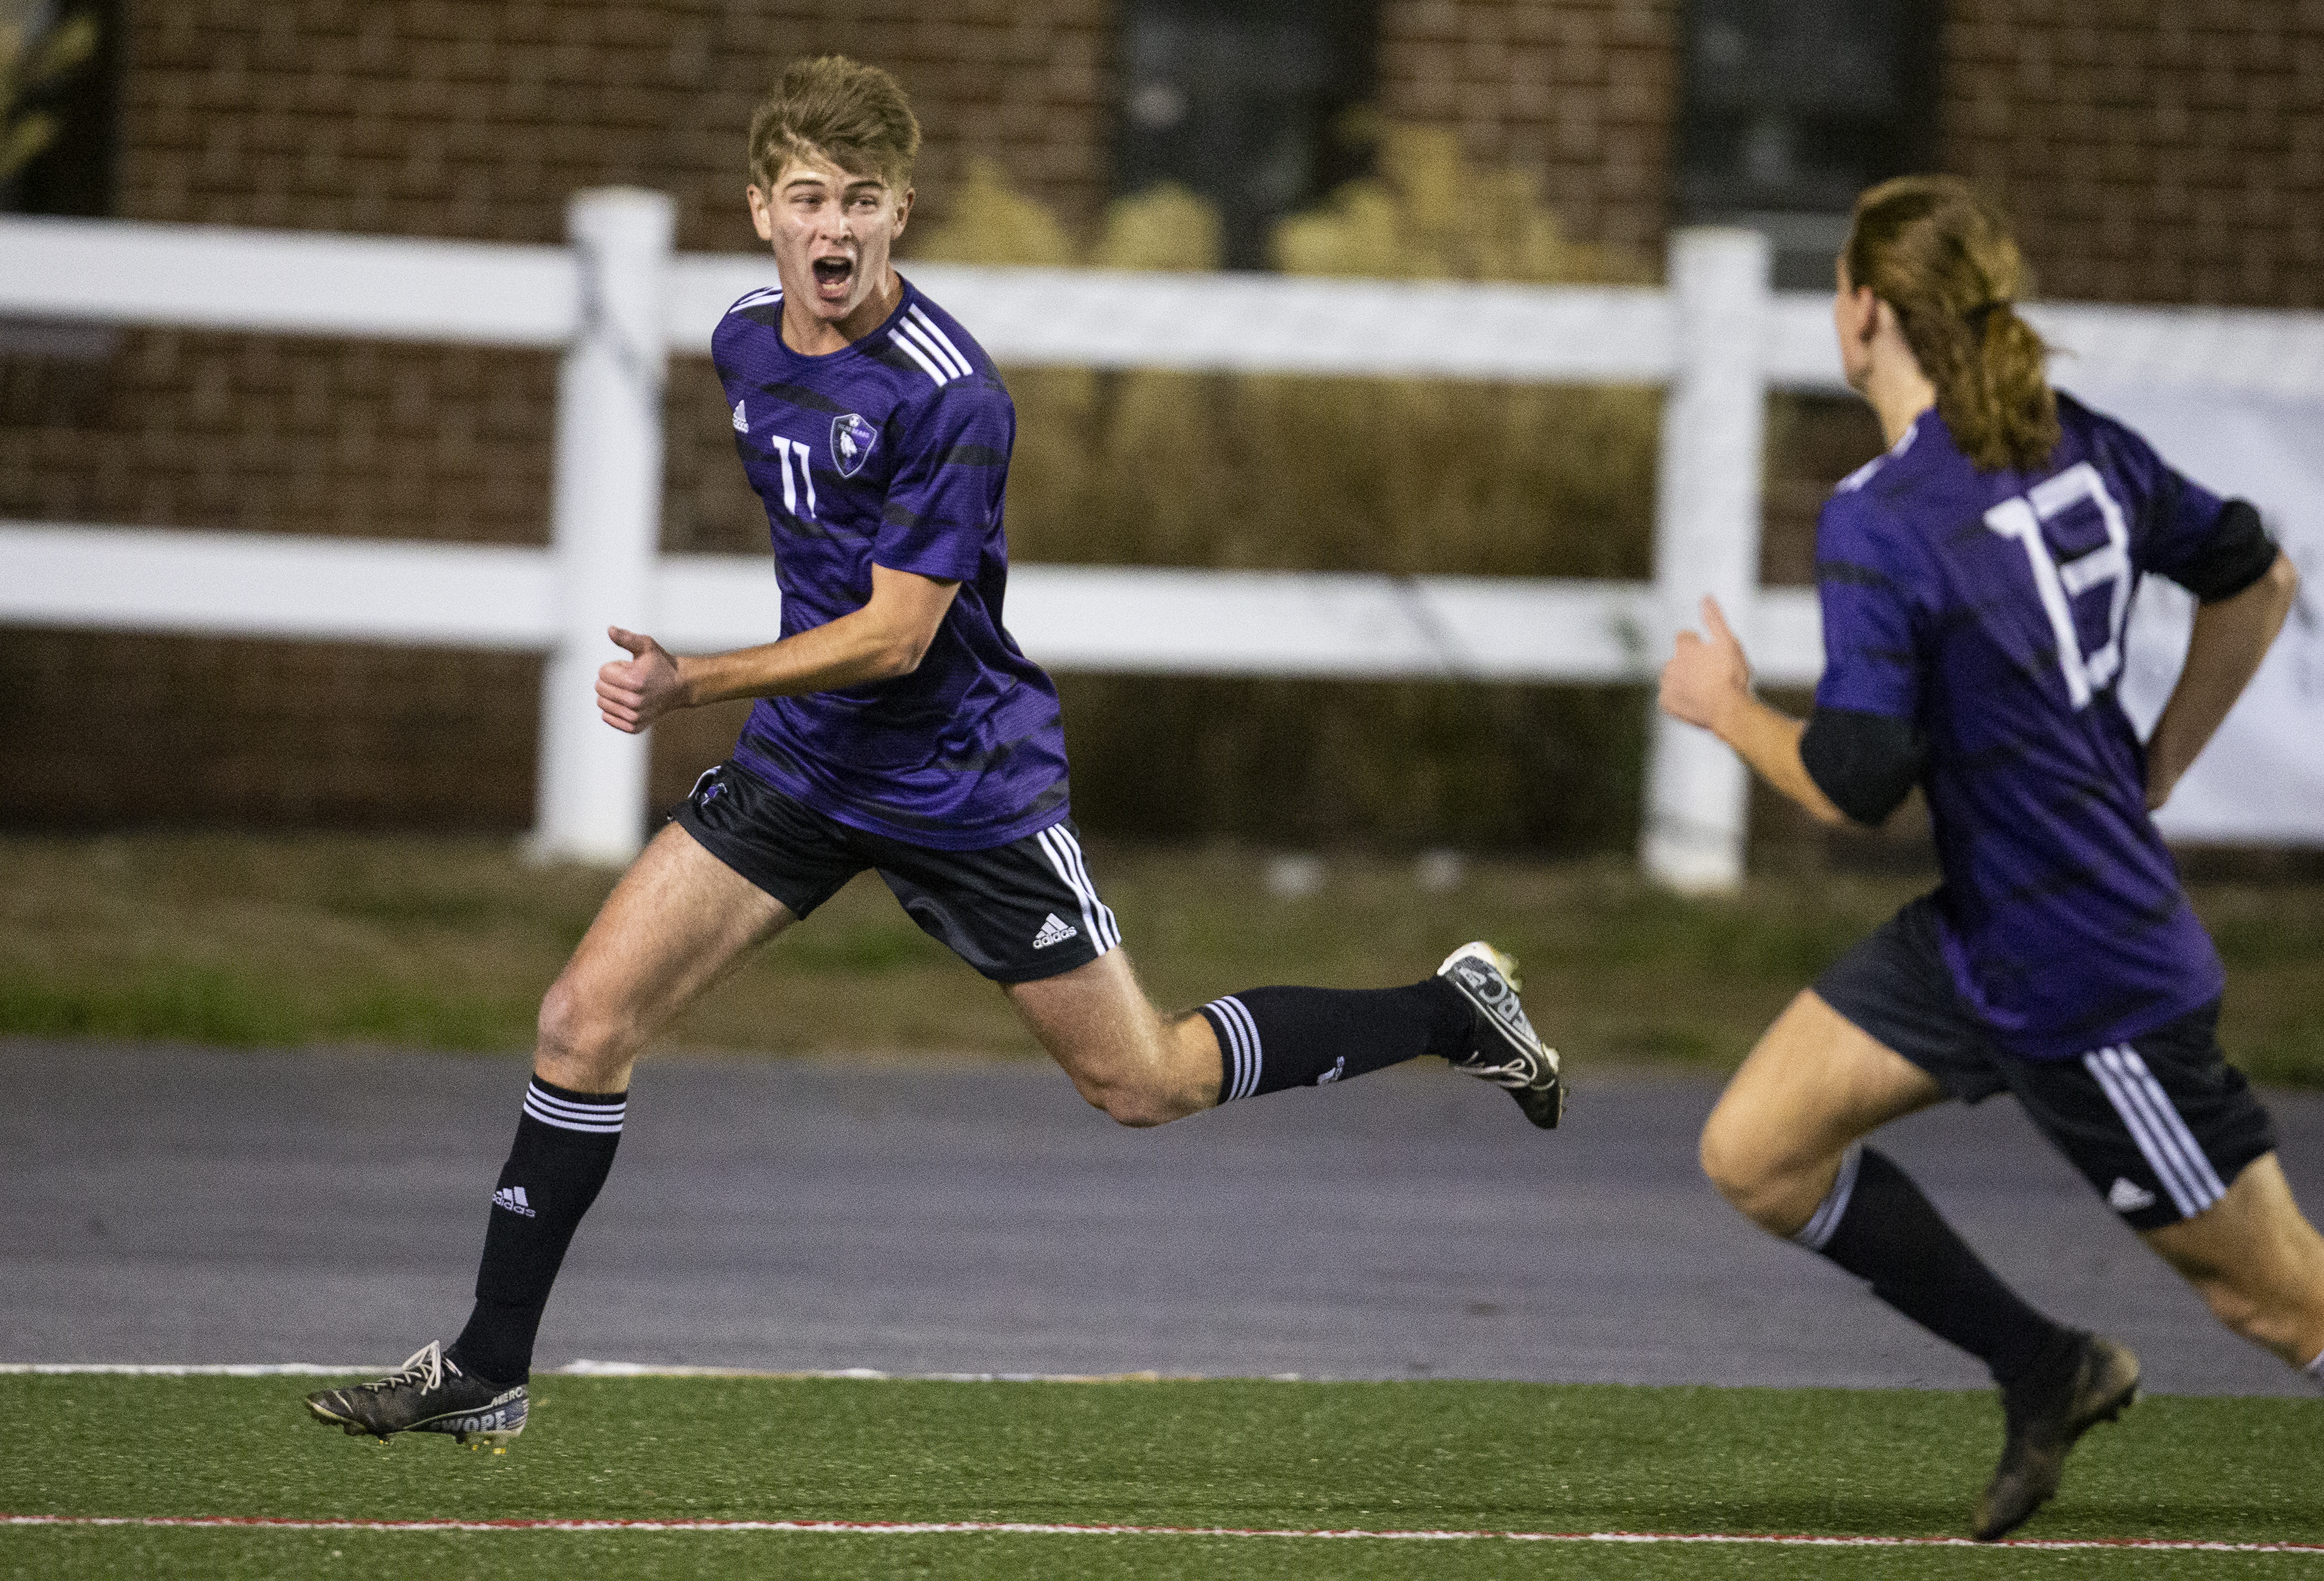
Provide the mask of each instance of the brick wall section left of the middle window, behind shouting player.
MULTIPOLYGON (((755 246, 751 107, 781 60, 897 72, 944 216, 969 156, 1076 223, 1104 202, 1104 0, 172 0, 128 5, 125 219, 555 242, 567 193, 679 200, 755 246)), ((0 356, 0 516, 546 542, 555 358, 128 332, 0 356)), ((669 549, 765 549, 704 360, 672 365, 669 549)), ((523 828, 539 665, 367 646, 9 632, 0 821, 523 828)), ((674 800, 732 709, 655 732, 674 800)))

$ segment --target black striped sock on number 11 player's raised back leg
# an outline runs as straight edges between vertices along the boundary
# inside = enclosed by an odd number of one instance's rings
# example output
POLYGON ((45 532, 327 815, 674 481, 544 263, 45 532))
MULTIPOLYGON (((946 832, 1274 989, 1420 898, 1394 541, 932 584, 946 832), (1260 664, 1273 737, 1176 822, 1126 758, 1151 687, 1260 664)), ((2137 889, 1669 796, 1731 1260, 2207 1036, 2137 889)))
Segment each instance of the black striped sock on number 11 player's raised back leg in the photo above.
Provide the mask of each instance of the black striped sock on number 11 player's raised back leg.
POLYGON ((1246 988, 1202 1014, 1218 1035, 1222 1104, 1422 1053, 1459 1058, 1469 1035, 1469 1002, 1441 977, 1411 988, 1246 988))

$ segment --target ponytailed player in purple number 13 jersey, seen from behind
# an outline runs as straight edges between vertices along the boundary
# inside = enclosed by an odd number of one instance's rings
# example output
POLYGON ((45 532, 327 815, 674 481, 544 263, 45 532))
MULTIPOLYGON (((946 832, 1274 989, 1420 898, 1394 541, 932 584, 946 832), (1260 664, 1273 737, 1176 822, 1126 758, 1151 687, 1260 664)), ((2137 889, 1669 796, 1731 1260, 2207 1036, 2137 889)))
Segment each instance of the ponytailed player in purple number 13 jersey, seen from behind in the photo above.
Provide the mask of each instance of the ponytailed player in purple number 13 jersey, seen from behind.
POLYGON ((2006 221, 1961 181, 1857 200, 1834 321, 1889 451, 1815 535, 1815 714, 1759 702, 1715 602, 1662 707, 1824 823, 1880 823, 1920 784, 1943 884, 1766 1030, 1703 1128, 1703 1169, 1762 1228, 1871 1281, 1980 1358, 2006 1444, 1971 1530, 2057 1493, 2066 1453, 2138 1393, 2138 1360, 2029 1307, 1882 1153, 1873 1128, 2015 1093, 2222 1323, 2324 1381, 2324 1239, 2266 1109, 2215 1037, 2224 972, 2150 811, 2226 716, 2296 577, 2257 512, 2050 391, 2017 316, 2006 221), (2140 746, 2115 698, 2131 591, 2201 600, 2140 746))

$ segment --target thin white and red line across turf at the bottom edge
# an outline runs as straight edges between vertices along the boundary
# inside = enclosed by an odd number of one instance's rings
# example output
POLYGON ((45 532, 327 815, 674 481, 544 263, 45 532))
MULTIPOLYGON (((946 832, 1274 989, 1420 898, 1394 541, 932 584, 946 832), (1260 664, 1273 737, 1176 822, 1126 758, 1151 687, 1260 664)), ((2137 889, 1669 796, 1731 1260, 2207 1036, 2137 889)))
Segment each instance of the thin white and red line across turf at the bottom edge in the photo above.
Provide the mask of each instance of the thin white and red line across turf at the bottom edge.
POLYGON ((1968 1537, 1806 1537, 1783 1532, 1457 1532, 1457 1530, 1299 1530, 1243 1525, 1067 1525, 1048 1521, 302 1521, 297 1516, 0 1516, 0 1525, 132 1525, 277 1532, 827 1532, 844 1537, 1276 1537, 1371 1541, 1557 1541, 1557 1544, 1710 1544, 1755 1548, 2133 1548, 2152 1553, 2324 1553, 2298 1541, 2196 1541, 2166 1537, 2020 1537, 1980 1544, 1968 1537))

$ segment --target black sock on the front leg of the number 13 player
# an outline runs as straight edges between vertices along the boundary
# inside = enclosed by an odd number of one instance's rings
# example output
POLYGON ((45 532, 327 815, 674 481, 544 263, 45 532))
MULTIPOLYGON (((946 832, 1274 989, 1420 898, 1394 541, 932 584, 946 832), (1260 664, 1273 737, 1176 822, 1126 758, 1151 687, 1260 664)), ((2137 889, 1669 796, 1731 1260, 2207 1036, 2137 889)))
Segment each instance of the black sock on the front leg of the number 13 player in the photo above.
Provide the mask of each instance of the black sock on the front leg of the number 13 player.
POLYGON ((2082 1342, 2001 1283, 1913 1176, 1868 1146, 1848 1151, 1831 1193, 1792 1239, 1871 1281, 1873 1295, 1975 1355, 2003 1388, 2073 1365, 2082 1342))

